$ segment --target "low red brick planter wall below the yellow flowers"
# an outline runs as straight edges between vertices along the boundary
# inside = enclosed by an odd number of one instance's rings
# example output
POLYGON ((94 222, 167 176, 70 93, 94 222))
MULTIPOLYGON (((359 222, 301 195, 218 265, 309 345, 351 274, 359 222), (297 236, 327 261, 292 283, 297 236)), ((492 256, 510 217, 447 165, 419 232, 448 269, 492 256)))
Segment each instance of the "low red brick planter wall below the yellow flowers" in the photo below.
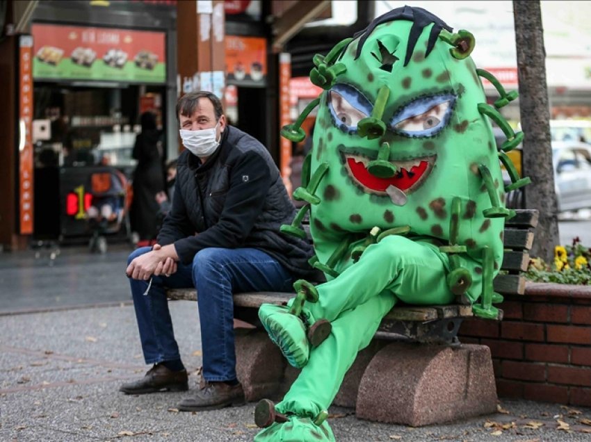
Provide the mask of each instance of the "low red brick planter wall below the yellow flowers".
POLYGON ((591 287, 528 285, 500 308, 502 322, 460 328, 462 343, 490 347, 499 396, 590 407, 591 287))

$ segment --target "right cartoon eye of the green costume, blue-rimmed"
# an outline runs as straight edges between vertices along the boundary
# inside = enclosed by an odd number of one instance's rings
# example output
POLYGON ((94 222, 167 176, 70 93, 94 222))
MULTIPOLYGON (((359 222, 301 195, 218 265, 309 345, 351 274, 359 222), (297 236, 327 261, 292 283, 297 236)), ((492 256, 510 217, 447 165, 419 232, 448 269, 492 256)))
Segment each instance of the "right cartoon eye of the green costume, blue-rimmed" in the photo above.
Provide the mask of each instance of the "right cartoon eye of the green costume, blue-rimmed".
POLYGON ((447 126, 454 104, 451 94, 416 99, 394 115, 390 128, 405 136, 433 136, 447 126))

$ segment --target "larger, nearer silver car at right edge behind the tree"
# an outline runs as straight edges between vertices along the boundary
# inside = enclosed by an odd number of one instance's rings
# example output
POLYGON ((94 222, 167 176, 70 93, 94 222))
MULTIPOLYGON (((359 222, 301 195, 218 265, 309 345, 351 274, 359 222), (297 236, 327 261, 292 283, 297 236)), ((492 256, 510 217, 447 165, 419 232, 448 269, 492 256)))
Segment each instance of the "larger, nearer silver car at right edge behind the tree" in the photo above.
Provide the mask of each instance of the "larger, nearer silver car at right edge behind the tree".
POLYGON ((591 208, 591 145, 553 141, 552 163, 558 211, 591 208))

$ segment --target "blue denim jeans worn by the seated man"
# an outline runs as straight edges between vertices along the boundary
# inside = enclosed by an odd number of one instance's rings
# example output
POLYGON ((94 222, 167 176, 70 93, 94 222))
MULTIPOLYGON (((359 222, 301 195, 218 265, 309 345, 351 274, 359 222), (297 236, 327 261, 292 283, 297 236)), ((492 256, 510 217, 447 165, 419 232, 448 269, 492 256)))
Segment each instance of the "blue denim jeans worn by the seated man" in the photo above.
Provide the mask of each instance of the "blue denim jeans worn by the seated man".
MULTIPOLYGON (((136 249, 129 255, 128 265, 150 250, 136 249)), ((232 293, 291 291, 293 281, 280 263, 260 250, 211 247, 197 252, 191 265, 178 263, 177 272, 170 277, 152 277, 147 295, 148 281, 129 279, 129 283, 146 363, 181 359, 165 290, 197 289, 202 373, 204 379, 215 382, 236 379, 232 293)))

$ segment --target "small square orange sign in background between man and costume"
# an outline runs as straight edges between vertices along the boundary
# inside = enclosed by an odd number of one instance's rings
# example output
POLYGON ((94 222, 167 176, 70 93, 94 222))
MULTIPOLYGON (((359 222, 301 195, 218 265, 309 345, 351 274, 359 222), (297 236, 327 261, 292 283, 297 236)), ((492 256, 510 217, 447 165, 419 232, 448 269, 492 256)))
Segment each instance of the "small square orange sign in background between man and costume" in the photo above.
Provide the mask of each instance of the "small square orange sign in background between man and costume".
POLYGON ((266 85, 267 40, 226 35, 226 72, 229 84, 266 85))

